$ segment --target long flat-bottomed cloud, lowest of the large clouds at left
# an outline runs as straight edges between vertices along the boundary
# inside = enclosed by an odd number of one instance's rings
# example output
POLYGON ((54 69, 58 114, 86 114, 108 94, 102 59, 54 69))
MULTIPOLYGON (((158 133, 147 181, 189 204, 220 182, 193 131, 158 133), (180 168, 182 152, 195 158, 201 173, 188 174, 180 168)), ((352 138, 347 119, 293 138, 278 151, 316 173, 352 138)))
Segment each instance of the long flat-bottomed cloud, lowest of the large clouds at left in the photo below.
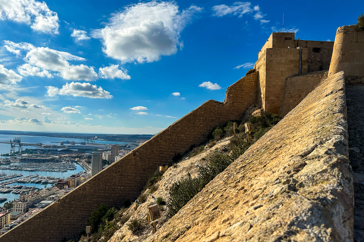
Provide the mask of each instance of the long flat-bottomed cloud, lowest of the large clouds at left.
POLYGON ((91 85, 90 83, 86 82, 66 83, 60 89, 54 86, 47 86, 47 96, 54 97, 56 95, 105 99, 112 98, 110 92, 103 90, 102 87, 97 87, 96 85, 91 85))

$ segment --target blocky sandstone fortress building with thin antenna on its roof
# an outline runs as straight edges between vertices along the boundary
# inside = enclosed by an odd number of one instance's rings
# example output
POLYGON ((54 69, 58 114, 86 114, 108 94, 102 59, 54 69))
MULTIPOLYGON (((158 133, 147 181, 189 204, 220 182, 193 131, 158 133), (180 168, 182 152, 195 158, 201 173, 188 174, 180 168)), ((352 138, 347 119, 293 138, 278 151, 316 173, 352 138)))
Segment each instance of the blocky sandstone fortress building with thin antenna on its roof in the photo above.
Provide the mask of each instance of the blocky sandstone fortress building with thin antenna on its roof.
POLYGON ((259 72, 258 103, 265 111, 280 114, 286 78, 328 70, 332 49, 330 41, 295 40, 294 33, 272 33, 254 65, 259 72))

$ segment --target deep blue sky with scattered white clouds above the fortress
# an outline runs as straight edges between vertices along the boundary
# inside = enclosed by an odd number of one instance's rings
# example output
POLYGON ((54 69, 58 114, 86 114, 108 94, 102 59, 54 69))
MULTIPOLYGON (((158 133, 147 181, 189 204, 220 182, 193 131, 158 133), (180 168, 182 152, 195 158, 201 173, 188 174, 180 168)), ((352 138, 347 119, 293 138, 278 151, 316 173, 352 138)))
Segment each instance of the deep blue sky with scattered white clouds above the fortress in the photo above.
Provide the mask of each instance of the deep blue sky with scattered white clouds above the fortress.
POLYGON ((0 130, 157 133, 223 101, 283 13, 296 38, 333 41, 358 9, 362 1, 0 0, 0 130))

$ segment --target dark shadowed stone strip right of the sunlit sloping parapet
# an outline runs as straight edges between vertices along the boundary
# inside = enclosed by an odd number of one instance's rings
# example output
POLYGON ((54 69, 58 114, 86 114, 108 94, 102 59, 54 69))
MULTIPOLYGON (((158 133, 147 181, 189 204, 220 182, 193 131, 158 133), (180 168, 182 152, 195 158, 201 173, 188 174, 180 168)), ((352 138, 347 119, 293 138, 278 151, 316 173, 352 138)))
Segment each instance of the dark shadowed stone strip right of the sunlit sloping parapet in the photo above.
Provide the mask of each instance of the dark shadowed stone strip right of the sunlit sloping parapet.
POLYGON ((346 96, 354 178, 354 241, 364 242, 364 86, 347 86, 346 96))

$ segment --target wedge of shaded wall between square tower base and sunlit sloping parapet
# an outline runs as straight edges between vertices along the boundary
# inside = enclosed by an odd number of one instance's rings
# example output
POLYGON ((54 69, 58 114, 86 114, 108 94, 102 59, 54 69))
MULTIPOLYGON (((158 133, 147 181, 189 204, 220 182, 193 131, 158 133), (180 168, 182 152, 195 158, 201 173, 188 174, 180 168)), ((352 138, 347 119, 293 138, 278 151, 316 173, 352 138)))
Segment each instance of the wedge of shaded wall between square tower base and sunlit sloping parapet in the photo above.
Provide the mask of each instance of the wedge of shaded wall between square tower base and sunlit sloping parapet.
POLYGON ((328 71, 293 75, 286 79, 280 115, 285 116, 295 108, 318 84, 327 78, 328 71))

